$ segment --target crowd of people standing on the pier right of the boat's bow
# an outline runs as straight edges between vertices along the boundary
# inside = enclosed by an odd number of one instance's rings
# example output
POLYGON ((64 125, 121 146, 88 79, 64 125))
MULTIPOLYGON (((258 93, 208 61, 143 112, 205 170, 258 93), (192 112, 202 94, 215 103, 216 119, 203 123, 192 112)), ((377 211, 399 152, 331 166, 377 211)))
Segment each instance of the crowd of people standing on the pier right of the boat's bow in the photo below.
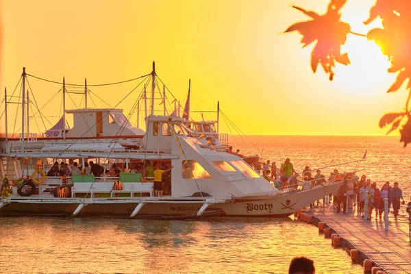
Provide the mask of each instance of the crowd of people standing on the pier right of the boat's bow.
POLYGON ((378 217, 382 220, 386 198, 388 198, 388 212, 393 207, 394 218, 397 220, 401 203, 405 203, 399 184, 395 182, 391 187, 390 182, 385 182, 381 188, 378 188, 377 183, 371 183, 371 179, 366 179, 366 175, 362 175, 361 179, 356 182, 348 182, 346 179, 343 185, 334 192, 333 203, 338 213, 348 212, 349 208, 354 209, 357 206, 358 216, 362 217, 364 217, 364 207, 367 204, 367 219, 371 220, 375 212, 375 220, 378 217))

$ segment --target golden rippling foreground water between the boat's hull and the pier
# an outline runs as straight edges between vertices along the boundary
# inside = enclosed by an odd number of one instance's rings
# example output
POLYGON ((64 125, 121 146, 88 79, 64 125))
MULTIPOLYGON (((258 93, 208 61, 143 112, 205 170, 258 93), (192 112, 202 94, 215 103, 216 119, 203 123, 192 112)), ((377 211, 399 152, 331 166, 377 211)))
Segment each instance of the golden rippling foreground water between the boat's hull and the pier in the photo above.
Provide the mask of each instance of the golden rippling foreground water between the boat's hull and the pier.
POLYGON ((313 225, 292 219, 2 218, 2 273, 360 273, 313 225))

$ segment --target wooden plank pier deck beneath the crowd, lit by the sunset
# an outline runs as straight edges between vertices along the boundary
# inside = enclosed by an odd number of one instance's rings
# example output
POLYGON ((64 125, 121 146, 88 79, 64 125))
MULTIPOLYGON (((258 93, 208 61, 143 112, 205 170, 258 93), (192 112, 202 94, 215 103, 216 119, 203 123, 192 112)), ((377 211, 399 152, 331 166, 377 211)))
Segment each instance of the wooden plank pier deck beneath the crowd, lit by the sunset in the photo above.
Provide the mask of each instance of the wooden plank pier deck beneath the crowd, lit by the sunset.
POLYGON ((311 213, 335 231, 350 249, 358 249, 364 259, 369 258, 386 273, 411 274, 408 219, 399 217, 395 221, 392 214, 388 215, 386 231, 384 219, 375 221, 375 212, 371 221, 364 220, 351 209, 347 213, 337 213, 332 205, 314 208, 311 213))

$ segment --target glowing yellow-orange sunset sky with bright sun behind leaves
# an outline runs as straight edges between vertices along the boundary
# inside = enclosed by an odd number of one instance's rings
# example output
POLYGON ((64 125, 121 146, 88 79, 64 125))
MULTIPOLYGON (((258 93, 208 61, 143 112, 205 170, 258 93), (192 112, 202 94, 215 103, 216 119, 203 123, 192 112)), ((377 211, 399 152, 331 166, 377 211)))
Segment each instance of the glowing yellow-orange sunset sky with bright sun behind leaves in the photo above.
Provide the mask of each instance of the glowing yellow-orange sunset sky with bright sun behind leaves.
MULTIPOLYGON (((100 84, 150 73, 154 60, 158 75, 182 105, 190 78, 191 110, 215 110, 220 101, 221 110, 245 134, 386 134, 388 129, 378 127, 379 118, 403 110, 407 97, 405 87, 386 94, 396 78, 386 72, 386 56, 374 42, 349 35, 345 50, 351 65, 338 64, 333 82, 321 69, 313 74, 312 45, 301 49, 301 35, 281 34, 309 19, 291 3, 323 13, 328 0, 3 0, 1 92, 7 86, 11 95, 23 66, 29 74, 59 82, 64 76, 66 82, 83 84, 87 77, 88 84, 100 84)), ((380 24, 362 24, 374 3, 348 0, 343 21, 366 34, 380 24)), ((29 84, 39 106, 61 88, 33 78, 29 84)), ((114 106, 137 84, 90 90, 114 106)), ((140 90, 119 105, 126 116, 140 90)), ((82 97, 72 96, 79 104, 82 97)), ((107 107, 93 99, 97 107, 107 107)), ((61 101, 58 95, 42 110, 51 123, 58 121, 61 101)), ((90 99, 89 106, 94 107, 90 99)), ((66 108, 75 108, 71 99, 66 108)), ((9 132, 15 113, 9 112, 9 132)), ((204 118, 216 116, 205 113, 204 118)), ((135 123, 136 116, 130 121, 135 123)), ((30 123, 31 131, 45 130, 30 123)), ((229 133, 224 121, 220 131, 229 133)))

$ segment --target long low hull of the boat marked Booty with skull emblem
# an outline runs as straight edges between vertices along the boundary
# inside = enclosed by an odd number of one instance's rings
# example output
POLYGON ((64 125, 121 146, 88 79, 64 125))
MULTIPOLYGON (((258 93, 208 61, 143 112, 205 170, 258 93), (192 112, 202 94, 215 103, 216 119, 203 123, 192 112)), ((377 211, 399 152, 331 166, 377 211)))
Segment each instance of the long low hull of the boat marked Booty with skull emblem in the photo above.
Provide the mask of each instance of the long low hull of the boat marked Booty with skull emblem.
MULTIPOLYGON (((313 201, 336 190, 339 183, 327 186, 317 186, 312 190, 278 193, 275 196, 266 195, 242 197, 223 203, 210 203, 204 211, 205 216, 212 213, 223 213, 225 216, 260 216, 284 217, 308 206, 313 201)), ((138 206, 138 199, 127 200, 79 200, 60 199, 45 201, 39 199, 11 199, 0 208, 0 216, 71 216, 80 203, 87 203, 77 214, 79 217, 118 216, 129 217, 138 206)), ((147 201, 134 218, 164 219, 164 216, 197 216, 203 201, 147 201)))

